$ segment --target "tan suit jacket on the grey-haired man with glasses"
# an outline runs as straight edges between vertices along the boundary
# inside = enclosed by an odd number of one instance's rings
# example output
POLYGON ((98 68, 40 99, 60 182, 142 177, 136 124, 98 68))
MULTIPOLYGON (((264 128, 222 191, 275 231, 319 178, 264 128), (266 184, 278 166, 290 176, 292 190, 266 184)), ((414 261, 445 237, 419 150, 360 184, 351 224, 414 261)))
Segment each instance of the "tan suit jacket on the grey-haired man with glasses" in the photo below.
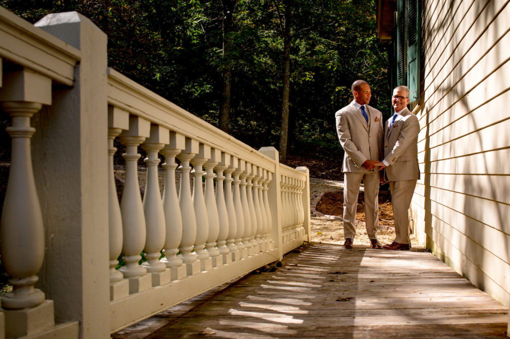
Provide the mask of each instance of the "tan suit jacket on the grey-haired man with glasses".
POLYGON ((418 180, 418 118, 404 108, 390 127, 392 119, 393 116, 386 122, 384 136, 384 159, 390 164, 385 168, 386 176, 389 181, 418 180))

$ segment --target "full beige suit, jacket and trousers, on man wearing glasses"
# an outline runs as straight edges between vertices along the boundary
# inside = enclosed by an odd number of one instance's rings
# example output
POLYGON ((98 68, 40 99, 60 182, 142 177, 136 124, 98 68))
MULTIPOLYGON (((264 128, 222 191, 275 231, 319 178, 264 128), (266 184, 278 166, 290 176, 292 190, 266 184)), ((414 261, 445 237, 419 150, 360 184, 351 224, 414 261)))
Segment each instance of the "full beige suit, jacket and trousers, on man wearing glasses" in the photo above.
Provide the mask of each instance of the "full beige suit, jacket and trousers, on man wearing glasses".
POLYGON ((409 244, 409 206, 413 199, 416 181, 420 178, 418 167, 418 133, 420 123, 412 112, 404 108, 390 127, 393 117, 386 122, 385 168, 390 181, 391 201, 395 218, 395 241, 409 244))

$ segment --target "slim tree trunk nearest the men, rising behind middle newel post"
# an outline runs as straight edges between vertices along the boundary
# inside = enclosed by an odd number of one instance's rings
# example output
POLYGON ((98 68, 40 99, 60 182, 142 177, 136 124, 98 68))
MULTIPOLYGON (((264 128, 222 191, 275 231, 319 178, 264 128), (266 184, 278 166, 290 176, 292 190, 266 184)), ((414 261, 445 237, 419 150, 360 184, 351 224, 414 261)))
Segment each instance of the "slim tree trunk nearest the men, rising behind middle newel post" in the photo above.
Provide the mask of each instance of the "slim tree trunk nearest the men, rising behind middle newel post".
POLYGON ((287 160, 287 142, 289 136, 289 91, 290 91, 290 4, 285 2, 285 23, 284 23, 284 58, 283 74, 284 89, 282 95, 282 125, 280 129, 280 161, 287 160))

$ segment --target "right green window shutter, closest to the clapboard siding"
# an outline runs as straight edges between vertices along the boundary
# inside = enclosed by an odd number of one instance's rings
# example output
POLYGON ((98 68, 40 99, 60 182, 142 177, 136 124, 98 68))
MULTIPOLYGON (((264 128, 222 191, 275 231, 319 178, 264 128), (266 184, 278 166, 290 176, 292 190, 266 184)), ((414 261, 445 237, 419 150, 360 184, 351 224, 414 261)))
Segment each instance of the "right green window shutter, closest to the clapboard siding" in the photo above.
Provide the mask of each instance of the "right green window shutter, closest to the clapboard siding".
POLYGON ((420 98, 420 61, 421 61, 421 11, 419 0, 406 0, 407 6, 407 87, 410 90, 410 102, 420 98))

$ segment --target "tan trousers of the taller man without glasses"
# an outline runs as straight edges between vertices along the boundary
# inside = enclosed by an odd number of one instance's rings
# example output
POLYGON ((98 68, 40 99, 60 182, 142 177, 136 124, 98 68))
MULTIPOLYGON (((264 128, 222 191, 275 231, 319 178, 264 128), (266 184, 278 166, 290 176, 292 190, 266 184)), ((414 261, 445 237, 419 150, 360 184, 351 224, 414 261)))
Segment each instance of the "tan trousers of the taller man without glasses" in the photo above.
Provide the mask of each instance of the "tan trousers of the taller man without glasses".
POLYGON ((377 239, 379 229, 379 172, 344 173, 344 238, 354 239, 356 236, 356 204, 363 181, 365 187, 365 219, 369 239, 377 239))

